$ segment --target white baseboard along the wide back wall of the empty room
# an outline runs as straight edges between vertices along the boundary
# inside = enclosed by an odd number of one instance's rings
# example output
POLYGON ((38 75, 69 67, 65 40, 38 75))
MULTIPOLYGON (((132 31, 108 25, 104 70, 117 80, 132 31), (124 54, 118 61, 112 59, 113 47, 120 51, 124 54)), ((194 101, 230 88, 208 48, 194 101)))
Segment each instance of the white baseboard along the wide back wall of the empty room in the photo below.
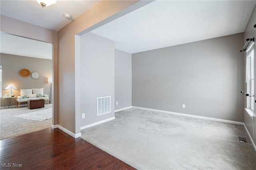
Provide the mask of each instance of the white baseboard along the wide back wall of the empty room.
POLYGON ((199 118, 199 119, 207 119, 207 120, 220 121, 220 122, 225 122, 225 123, 233 123, 233 124, 237 124, 237 125, 244 125, 244 123, 240 122, 240 121, 231 121, 231 120, 217 119, 217 118, 212 118, 212 117, 188 115, 188 114, 184 114, 184 113, 176 113, 176 112, 172 112, 172 111, 164 111, 164 110, 157 110, 157 109, 148 109, 148 108, 137 107, 137 106, 132 106, 132 107, 137 108, 137 109, 144 109, 144 110, 150 110, 150 111, 158 111, 158 112, 162 112, 162 113, 169 113, 169 114, 174 114, 174 115, 182 115, 182 116, 187 116, 187 117, 195 117, 195 118, 199 118))

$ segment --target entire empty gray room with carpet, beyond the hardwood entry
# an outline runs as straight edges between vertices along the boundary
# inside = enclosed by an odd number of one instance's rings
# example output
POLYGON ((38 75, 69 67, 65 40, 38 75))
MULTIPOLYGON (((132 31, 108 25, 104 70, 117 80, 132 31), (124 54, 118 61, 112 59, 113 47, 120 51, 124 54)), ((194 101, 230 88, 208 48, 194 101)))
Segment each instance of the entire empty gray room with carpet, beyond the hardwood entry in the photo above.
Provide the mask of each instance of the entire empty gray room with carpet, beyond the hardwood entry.
POLYGON ((247 3, 155 1, 81 35, 82 139, 137 169, 254 169, 247 3))

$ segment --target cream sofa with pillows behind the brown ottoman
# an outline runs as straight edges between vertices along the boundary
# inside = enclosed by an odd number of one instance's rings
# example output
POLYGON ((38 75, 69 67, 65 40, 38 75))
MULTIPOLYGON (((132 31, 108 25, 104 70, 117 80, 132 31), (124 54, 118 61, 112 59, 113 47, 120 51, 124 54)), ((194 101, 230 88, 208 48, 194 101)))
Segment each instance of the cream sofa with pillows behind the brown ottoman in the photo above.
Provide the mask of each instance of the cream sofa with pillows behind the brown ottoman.
POLYGON ((20 103, 33 99, 44 99, 44 101, 49 104, 49 96, 44 94, 44 88, 20 89, 20 96, 17 96, 16 101, 20 108, 20 103))

